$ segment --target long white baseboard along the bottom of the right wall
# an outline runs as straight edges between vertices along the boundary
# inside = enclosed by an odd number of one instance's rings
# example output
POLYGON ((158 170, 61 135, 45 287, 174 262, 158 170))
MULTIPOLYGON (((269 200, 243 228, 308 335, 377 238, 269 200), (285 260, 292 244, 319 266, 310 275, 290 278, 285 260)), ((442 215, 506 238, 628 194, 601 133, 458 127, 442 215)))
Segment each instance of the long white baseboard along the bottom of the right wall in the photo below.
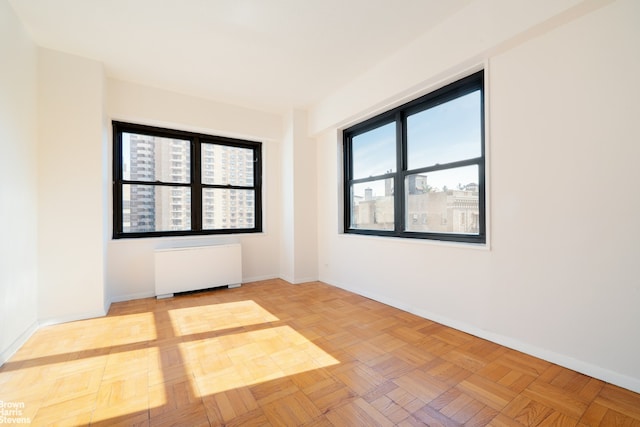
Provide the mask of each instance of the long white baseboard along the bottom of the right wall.
POLYGON ((440 323, 445 326, 449 326, 451 328, 457 329, 462 332, 466 332, 476 337, 486 339, 488 341, 494 342, 496 344, 500 344, 502 346, 511 348, 513 350, 520 351, 530 356, 534 356, 539 359, 546 360, 547 362, 555 363, 556 365, 560 365, 565 368, 571 369, 573 371, 588 375, 590 377, 617 385, 627 390, 640 393, 640 379, 638 378, 629 377, 627 375, 620 374, 618 372, 611 371, 609 369, 605 369, 600 366, 584 362, 582 360, 574 359, 572 357, 569 357, 563 354, 559 354, 550 350, 536 347, 511 337, 489 332, 489 331, 477 328, 474 325, 468 324, 466 322, 453 320, 448 317, 431 313, 427 310, 417 309, 415 307, 408 306, 407 304, 402 303, 400 301, 394 300, 393 298, 377 295, 375 293, 366 291, 364 289, 360 289, 353 286, 347 286, 347 285, 343 285, 335 282, 326 282, 326 283, 339 287, 341 289, 345 289, 350 292, 354 292, 358 295, 362 295, 364 297, 381 302, 383 304, 390 305, 400 310, 415 314, 416 316, 420 316, 422 318, 432 320, 434 322, 440 323))

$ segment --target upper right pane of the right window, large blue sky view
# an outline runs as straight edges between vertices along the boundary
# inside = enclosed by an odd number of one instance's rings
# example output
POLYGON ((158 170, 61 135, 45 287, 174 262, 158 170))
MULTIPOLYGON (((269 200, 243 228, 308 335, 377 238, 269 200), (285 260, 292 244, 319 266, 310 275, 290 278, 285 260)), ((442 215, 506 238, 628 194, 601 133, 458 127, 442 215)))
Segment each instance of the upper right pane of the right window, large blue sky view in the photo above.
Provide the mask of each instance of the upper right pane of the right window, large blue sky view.
POLYGON ((480 157, 480 91, 407 117, 408 169, 480 157))

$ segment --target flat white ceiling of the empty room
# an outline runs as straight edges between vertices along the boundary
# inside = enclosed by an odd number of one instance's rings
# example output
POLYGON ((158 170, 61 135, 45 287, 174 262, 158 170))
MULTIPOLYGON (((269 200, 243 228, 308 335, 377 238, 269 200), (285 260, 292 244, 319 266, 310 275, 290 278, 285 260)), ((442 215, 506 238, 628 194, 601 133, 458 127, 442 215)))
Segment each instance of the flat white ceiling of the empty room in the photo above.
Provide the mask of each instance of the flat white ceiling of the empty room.
POLYGON ((9 0, 39 46, 121 80, 267 111, 313 105, 471 0, 9 0))

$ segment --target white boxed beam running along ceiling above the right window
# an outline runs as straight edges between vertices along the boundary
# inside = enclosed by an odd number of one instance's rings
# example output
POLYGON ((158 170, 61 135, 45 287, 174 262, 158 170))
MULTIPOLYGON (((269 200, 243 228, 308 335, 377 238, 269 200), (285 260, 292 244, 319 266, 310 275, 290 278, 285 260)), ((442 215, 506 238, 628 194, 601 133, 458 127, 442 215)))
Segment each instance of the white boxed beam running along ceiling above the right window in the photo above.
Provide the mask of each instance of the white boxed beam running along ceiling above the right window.
POLYGON ((309 114, 311 134, 416 98, 431 85, 455 80, 461 70, 487 55, 611 1, 475 0, 314 105, 309 114))

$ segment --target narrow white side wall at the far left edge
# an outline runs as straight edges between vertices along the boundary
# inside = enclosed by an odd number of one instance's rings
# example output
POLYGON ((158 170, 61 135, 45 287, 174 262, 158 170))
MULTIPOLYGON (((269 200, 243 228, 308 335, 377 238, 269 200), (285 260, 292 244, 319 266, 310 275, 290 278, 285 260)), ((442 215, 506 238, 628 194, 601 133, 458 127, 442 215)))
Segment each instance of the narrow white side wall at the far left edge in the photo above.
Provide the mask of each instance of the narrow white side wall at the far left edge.
POLYGON ((0 1, 0 364, 35 330, 37 49, 0 1))

